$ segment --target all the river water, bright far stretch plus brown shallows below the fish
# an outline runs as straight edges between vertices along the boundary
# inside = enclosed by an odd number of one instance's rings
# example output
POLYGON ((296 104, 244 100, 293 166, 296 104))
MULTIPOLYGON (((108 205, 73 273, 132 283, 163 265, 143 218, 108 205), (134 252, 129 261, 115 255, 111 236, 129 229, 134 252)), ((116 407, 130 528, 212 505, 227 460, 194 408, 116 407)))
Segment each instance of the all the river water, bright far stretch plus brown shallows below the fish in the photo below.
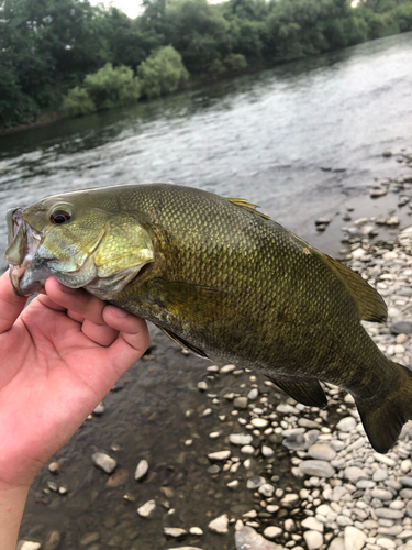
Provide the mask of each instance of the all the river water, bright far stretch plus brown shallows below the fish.
MULTIPOLYGON (((3 136, 1 257, 8 208, 58 191, 148 182, 247 198, 321 250, 337 254, 346 209, 355 209, 354 218, 387 215, 397 196, 372 200, 368 186, 411 174, 397 163, 401 156, 382 157, 387 150, 398 155, 412 148, 411 59, 410 33, 3 136), (321 234, 314 227, 320 216, 332 217, 321 234)), ((401 216, 405 224, 408 213, 401 216)), ((222 479, 210 476, 205 453, 227 444, 208 436, 219 429, 218 414, 226 415, 226 430, 236 429, 223 396, 229 391, 247 395, 248 375, 236 383, 209 381, 221 404, 205 417, 211 397, 199 394, 197 384, 209 363, 182 355, 156 330, 153 337, 156 348, 109 394, 104 415, 85 422, 57 453, 60 474, 44 468, 36 477, 22 537, 44 544, 51 531, 59 531, 58 548, 78 550, 91 534, 85 543, 90 550, 160 550, 178 546, 164 539, 163 526, 200 526, 204 537, 187 543, 203 550, 234 548, 233 538, 208 534, 208 522, 222 513, 238 517, 249 510, 250 495, 246 490, 230 494, 222 479), (193 447, 183 444, 188 439, 193 447), (125 475, 118 488, 108 488, 107 475, 92 465, 97 450, 118 459, 125 475), (141 459, 149 461, 151 474, 136 484, 133 473, 141 459), (67 486, 67 495, 51 491, 51 482, 67 486), (158 504, 154 519, 138 518, 137 506, 151 498, 160 502, 162 485, 174 488, 176 514, 158 504), (123 502, 125 493, 134 504, 123 502)), ((258 383, 264 392, 261 377, 258 383)), ((288 476, 289 469, 288 455, 277 451, 274 471, 280 487, 300 483, 288 476)))

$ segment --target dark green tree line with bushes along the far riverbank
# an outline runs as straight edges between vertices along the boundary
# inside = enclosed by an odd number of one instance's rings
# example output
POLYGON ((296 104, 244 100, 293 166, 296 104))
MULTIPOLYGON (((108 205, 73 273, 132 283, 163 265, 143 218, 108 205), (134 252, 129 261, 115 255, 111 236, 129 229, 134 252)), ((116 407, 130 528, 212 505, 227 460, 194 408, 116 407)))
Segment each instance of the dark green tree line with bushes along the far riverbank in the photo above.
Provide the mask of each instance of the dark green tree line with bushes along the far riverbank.
POLYGON ((411 0, 0 0, 0 128, 77 116, 412 31, 411 0))

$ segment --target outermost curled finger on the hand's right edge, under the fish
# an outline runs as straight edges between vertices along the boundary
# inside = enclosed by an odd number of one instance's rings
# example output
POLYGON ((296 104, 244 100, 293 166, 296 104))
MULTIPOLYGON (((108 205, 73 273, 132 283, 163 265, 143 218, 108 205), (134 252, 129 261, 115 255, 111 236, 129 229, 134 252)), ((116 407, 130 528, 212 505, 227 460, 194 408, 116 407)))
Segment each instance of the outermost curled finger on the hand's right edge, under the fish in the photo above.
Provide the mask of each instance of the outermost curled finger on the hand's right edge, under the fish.
POLYGON ((121 376, 147 350, 151 343, 147 324, 143 319, 114 306, 104 308, 103 318, 110 327, 122 332, 108 349, 112 364, 121 376))

